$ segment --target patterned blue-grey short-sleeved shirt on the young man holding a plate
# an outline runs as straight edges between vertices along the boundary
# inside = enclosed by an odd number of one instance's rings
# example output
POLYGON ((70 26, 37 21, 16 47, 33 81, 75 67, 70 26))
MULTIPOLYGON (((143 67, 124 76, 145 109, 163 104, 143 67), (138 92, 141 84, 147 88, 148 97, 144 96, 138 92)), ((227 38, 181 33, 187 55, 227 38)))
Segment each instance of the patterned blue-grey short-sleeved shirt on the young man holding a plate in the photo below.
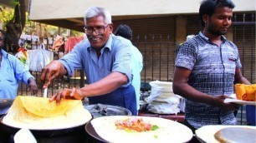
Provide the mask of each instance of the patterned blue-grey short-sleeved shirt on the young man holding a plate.
MULTIPOLYGON (((179 48, 176 67, 191 70, 187 83, 210 96, 233 94, 236 68, 241 67, 238 48, 222 37, 220 47, 202 32, 179 48)), ((236 125, 233 111, 224 111, 196 101, 186 100, 185 118, 195 128, 206 125, 236 125)))

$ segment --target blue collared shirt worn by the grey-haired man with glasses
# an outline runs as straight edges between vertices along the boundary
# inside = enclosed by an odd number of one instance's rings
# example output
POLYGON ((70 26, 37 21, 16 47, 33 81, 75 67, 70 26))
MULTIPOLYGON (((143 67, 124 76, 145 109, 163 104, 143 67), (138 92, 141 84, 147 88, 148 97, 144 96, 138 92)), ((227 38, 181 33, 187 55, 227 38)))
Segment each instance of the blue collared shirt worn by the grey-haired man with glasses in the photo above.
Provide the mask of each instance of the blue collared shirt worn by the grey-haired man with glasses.
POLYGON ((90 47, 88 39, 79 42, 67 55, 59 59, 66 68, 68 75, 74 73, 74 69, 84 69, 89 84, 100 81, 111 72, 125 74, 131 84, 131 44, 122 37, 110 35, 105 47, 98 58, 93 47, 90 47))

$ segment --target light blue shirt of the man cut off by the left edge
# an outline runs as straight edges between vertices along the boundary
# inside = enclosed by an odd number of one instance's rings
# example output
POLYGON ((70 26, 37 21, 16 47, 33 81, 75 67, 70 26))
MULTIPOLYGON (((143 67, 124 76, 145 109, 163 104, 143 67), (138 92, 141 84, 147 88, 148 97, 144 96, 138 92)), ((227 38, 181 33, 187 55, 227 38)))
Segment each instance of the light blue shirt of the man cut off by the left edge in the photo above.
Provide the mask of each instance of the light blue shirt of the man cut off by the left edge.
POLYGON ((14 99, 17 96, 18 81, 28 84, 28 79, 33 77, 25 70, 23 63, 11 54, 1 50, 3 55, 0 67, 0 98, 14 99))

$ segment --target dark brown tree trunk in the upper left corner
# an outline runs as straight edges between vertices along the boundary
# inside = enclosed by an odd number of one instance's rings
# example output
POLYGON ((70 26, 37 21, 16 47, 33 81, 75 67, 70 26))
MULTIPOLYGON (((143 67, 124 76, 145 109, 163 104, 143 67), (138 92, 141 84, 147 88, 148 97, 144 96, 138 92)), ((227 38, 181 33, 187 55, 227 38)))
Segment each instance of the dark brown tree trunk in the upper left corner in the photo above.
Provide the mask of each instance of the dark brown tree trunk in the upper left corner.
POLYGON ((6 23, 5 50, 16 53, 18 40, 23 32, 26 22, 26 9, 24 0, 15 0, 13 17, 6 23))

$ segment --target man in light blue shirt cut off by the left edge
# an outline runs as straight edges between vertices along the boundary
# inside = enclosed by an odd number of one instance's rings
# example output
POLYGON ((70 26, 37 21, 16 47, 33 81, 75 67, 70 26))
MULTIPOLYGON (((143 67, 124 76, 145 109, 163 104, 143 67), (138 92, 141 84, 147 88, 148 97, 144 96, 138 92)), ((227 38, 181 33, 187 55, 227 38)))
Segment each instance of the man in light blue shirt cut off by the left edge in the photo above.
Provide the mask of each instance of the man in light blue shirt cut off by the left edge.
MULTIPOLYGON (((0 99, 4 99, 4 102, 0 103, 3 104, 0 108, 0 117, 8 111, 17 96, 18 81, 27 84, 31 94, 35 95, 38 92, 38 86, 31 73, 24 68, 23 62, 3 50, 4 39, 5 32, 0 29, 0 99)), ((7 132, 0 131, 0 142, 9 142, 9 138, 10 135, 7 132)))

